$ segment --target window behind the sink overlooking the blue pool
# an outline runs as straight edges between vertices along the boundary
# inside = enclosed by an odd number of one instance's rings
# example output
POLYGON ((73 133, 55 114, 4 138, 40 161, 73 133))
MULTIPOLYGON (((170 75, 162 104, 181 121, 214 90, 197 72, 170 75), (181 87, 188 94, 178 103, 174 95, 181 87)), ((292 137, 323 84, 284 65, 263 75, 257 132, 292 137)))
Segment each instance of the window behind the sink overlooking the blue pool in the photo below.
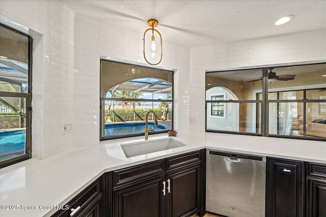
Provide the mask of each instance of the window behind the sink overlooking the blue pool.
POLYGON ((173 129, 172 71, 101 60, 100 73, 101 140, 144 135, 146 116, 149 134, 173 129))

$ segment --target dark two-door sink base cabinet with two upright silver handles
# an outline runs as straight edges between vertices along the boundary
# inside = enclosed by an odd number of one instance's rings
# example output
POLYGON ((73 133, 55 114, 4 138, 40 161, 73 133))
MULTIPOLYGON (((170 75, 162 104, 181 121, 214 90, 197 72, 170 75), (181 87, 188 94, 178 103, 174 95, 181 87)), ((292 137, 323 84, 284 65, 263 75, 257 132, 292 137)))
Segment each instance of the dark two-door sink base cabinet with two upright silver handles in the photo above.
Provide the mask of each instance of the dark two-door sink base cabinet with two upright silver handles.
POLYGON ((115 217, 179 217, 200 212, 201 151, 113 171, 115 217))

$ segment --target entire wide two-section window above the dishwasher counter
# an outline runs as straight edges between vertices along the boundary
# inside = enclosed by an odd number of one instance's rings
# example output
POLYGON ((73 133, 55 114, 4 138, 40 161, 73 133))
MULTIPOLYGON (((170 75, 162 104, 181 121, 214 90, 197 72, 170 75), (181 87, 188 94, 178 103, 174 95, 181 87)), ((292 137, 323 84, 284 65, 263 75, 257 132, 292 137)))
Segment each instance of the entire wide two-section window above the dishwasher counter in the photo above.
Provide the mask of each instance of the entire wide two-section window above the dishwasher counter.
POLYGON ((206 73, 207 132, 325 140, 325 105, 325 63, 206 73))

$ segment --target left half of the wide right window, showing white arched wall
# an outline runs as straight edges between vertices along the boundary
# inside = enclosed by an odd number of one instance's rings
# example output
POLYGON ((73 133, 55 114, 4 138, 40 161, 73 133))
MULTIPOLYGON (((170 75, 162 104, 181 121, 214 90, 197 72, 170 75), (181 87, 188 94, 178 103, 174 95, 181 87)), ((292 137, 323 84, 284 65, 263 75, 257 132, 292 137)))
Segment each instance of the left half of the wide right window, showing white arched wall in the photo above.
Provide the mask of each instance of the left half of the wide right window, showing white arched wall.
POLYGON ((261 69, 206 73, 207 132, 261 134, 262 100, 253 98, 253 90, 262 89, 262 82, 243 82, 260 77, 261 69))

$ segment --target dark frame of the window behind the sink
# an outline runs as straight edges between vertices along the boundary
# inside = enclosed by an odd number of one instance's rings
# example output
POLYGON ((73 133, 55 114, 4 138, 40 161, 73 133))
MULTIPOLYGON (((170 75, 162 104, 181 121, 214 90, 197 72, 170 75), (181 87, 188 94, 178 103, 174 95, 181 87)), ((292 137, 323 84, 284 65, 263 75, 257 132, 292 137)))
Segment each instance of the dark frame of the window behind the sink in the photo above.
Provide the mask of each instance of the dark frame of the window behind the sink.
MULTIPOLYGON (((107 98, 107 97, 101 97, 100 94, 100 105, 99 105, 99 109, 100 109, 100 132, 99 132, 99 137, 100 137, 100 141, 105 141, 105 140, 112 140, 112 139, 121 139, 121 138, 131 138, 131 137, 137 137, 137 136, 145 136, 145 132, 143 133, 135 133, 135 134, 126 134, 126 135, 112 135, 112 136, 102 136, 103 134, 103 127, 105 128, 105 126, 103 125, 103 113, 104 110, 102 110, 102 108, 105 105, 105 101, 115 101, 115 102, 119 102, 119 101, 128 101, 128 102, 168 102, 172 104, 172 109, 169 110, 171 112, 171 116, 174 116, 174 71, 171 69, 159 69, 158 67, 149 67, 149 66, 144 66, 142 64, 137 64, 137 63, 130 63, 130 61, 125 62, 123 60, 121 61, 115 61, 115 60, 107 60, 107 59, 100 59, 100 64, 101 61, 108 61, 108 62, 113 62, 113 63, 120 63, 120 64, 125 64, 125 65, 129 65, 129 66, 138 66, 138 67, 145 67, 148 69, 155 69, 155 70, 164 70, 164 71, 171 71, 172 74, 172 99, 171 100, 165 100, 165 99, 132 99, 132 98, 107 98)), ((100 79, 101 79, 101 70, 100 70, 100 79)), ((100 80, 100 93, 101 93, 101 80, 100 80)), ((105 116, 105 115, 104 115, 105 116)), ((152 132, 148 132, 149 135, 154 135, 154 134, 162 134, 162 133, 167 133, 170 130, 174 129, 174 118, 172 118, 171 120, 171 129, 168 130, 162 130, 162 131, 152 131, 152 132)))

